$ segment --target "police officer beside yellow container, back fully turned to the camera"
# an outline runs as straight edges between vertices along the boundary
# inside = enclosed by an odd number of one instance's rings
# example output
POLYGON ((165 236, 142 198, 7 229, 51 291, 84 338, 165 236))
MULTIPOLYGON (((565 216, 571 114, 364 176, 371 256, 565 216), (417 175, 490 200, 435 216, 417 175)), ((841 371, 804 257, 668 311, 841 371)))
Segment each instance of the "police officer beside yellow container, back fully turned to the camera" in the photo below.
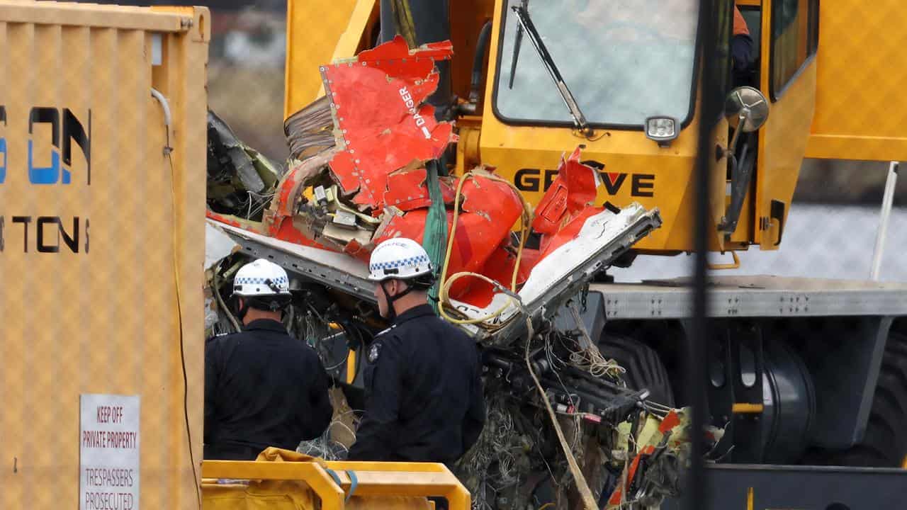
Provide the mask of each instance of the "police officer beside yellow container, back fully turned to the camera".
POLYGON ((233 281, 239 333, 205 346, 205 458, 254 460, 268 446, 296 450, 325 431, 333 409, 313 348, 280 322, 290 302, 287 272, 268 260, 233 281))

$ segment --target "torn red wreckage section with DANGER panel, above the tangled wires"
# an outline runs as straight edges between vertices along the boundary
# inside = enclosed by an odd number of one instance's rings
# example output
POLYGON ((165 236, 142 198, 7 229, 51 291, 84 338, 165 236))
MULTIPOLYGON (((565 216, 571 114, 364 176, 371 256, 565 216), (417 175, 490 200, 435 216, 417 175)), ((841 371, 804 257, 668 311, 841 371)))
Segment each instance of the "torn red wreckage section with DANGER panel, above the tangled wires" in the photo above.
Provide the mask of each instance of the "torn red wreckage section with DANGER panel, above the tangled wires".
MULTIPOLYGON (((212 206, 209 217, 367 262, 383 240, 424 241, 425 230, 434 224, 431 184, 436 178, 445 210, 438 221, 451 232, 443 264, 442 311, 448 319, 501 328, 518 315, 513 294, 528 286, 535 294, 523 296, 525 303, 551 287, 554 279, 548 274, 567 276, 563 270, 546 269, 533 280, 532 271, 580 237, 590 221, 597 221, 595 228, 610 222, 620 229, 628 218, 637 221, 646 211, 631 204, 621 215, 613 206, 593 205, 599 175, 580 163, 579 149, 561 161, 559 177, 535 211, 492 167, 475 168, 460 178, 441 175, 444 169, 439 172, 433 163, 457 137, 453 123, 436 121, 434 107, 425 100, 437 87, 435 62, 452 54, 449 43, 411 50, 397 37, 356 58, 322 66, 327 95, 288 120, 293 159, 273 187, 261 191, 252 165, 242 157, 237 162, 234 155, 248 150, 222 136, 228 141, 223 145, 231 149, 229 157, 220 160, 228 159, 236 169, 229 172, 231 181, 242 182, 248 199, 221 191, 210 197, 220 208, 212 206), (259 222, 249 222, 256 220, 255 214, 219 212, 243 207, 257 212, 263 203, 258 198, 269 200, 259 222), (229 207, 221 207, 224 202, 229 207), (518 224, 522 235, 514 236, 518 224), (537 247, 525 245, 530 230, 539 236, 537 247)), ((219 123, 212 126, 224 131, 219 123)))

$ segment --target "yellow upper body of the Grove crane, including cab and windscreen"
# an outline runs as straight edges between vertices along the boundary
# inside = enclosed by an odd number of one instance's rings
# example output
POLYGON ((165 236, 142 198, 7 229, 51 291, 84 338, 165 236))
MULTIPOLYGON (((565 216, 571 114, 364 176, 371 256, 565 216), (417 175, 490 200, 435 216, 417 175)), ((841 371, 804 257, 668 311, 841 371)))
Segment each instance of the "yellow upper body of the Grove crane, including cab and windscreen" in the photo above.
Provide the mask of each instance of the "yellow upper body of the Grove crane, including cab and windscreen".
MULTIPOLYGON (((584 162, 600 173, 597 202, 661 211, 662 227, 635 246, 640 252, 693 249, 704 37, 718 39, 718 54, 707 57, 727 75, 722 89, 750 85, 768 106, 765 125, 742 132, 733 150, 732 127, 722 121, 713 134, 711 250, 777 249, 805 157, 884 161, 907 152, 896 131, 901 117, 891 113, 899 82, 886 68, 907 43, 886 28, 904 16, 892 1, 870 8, 824 0, 820 11, 818 0, 727 0, 713 13, 717 34, 700 30, 697 3, 686 0, 467 0, 447 19, 423 15, 420 25, 421 2, 409 2, 414 42, 450 38, 456 52, 442 87, 460 134, 452 172, 493 166, 537 203, 561 154, 582 145, 584 162), (742 77, 731 73, 735 5, 754 42, 755 64, 742 77), (577 129, 549 63, 522 30, 514 12, 521 7, 589 132, 577 129)), ((393 28, 381 26, 393 17, 382 16, 377 0, 341 0, 335 25, 315 30, 304 14, 315 11, 309 4, 289 2, 287 115, 317 97, 317 64, 366 49, 393 28)))

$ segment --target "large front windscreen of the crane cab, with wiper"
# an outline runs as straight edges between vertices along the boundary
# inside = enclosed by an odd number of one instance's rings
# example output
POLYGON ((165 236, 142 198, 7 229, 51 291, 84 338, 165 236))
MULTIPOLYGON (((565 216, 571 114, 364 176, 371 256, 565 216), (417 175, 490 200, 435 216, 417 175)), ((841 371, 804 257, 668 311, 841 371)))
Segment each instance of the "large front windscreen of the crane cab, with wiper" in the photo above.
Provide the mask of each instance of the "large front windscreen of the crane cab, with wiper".
POLYGON ((649 116, 680 123, 691 116, 698 1, 507 0, 503 5, 494 93, 498 118, 571 122, 557 85, 520 34, 512 13, 517 5, 526 5, 590 124, 640 129, 649 116))

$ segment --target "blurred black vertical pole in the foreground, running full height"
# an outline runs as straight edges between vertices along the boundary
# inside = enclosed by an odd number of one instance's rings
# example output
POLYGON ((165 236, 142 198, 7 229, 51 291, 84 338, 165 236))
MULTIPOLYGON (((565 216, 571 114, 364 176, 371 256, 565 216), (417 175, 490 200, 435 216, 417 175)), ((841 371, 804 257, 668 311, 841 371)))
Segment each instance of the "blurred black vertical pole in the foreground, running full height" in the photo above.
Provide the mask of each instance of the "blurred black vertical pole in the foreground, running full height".
MULTIPOLYGON (((696 249, 696 270, 693 278, 693 321, 688 338, 688 352, 685 370, 689 388, 690 405, 693 407, 693 423, 690 437, 692 439, 692 467, 689 473, 688 486, 685 491, 684 507, 688 510, 707 510, 708 479, 705 473, 703 456, 702 430, 706 424, 706 380, 707 367, 703 362, 706 356, 707 321, 707 240, 715 235, 716 227, 710 225, 708 201, 708 174, 715 157, 713 134, 721 114, 723 98, 719 75, 717 73, 717 2, 730 0, 701 0, 699 4, 699 41, 702 79, 701 111, 699 114, 699 140, 696 159, 696 223, 694 229, 694 247, 696 249)), ((693 212, 693 211, 690 211, 693 212)))

